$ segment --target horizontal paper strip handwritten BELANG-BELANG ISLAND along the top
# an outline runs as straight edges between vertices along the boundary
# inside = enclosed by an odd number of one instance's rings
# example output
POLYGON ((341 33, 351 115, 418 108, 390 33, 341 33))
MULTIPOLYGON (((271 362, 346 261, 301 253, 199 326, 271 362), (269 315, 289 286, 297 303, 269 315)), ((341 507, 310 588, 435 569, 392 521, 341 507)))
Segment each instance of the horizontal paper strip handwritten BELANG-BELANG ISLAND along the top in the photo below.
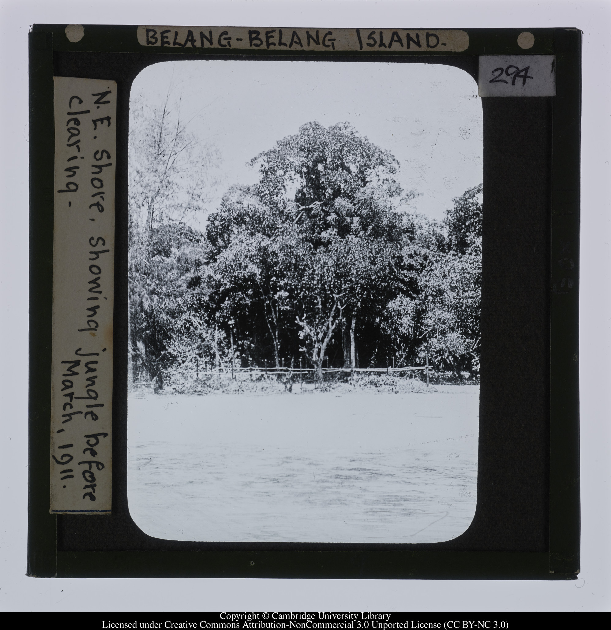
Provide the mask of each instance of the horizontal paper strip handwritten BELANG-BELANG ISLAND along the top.
POLYGON ((143 46, 187 49, 462 52, 469 45, 465 31, 405 28, 138 26, 137 37, 143 46))

